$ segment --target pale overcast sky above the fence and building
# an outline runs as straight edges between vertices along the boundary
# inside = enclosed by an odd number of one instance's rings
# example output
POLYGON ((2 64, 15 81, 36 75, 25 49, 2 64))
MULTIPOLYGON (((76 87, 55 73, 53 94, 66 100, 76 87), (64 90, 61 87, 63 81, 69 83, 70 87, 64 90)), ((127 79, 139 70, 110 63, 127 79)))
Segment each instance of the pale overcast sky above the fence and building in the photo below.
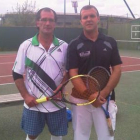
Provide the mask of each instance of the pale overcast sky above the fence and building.
MULTIPOLYGON (((23 5, 27 0, 0 0, 0 15, 12 12, 12 8, 16 8, 17 3, 23 5)), ((66 1, 65 12, 74 13, 74 8, 72 7, 72 0, 28 0, 28 2, 36 1, 36 9, 43 7, 50 7, 57 13, 64 13, 64 1, 66 1)), ((74 1, 74 0, 73 0, 74 1)), ((84 5, 88 5, 89 1, 91 5, 94 5, 99 10, 101 15, 116 15, 131 17, 132 15, 128 10, 124 0, 77 0, 78 7, 77 11, 84 5)), ((129 5, 131 11, 133 12, 135 18, 140 18, 140 0, 125 0, 129 5)))

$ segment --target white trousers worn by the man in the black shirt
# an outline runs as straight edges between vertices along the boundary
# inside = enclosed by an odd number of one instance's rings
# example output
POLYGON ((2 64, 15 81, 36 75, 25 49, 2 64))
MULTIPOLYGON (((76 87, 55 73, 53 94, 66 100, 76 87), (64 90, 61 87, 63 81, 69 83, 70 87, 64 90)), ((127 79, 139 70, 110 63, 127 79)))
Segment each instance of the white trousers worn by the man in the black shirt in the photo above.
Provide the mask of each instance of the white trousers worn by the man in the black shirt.
MULTIPOLYGON (((106 106, 106 103, 103 106, 106 106)), ((116 125, 116 113, 117 106, 115 102, 111 100, 109 102, 109 114, 114 130, 116 125)), ((98 140, 114 140, 114 136, 110 136, 106 117, 101 107, 95 108, 92 105, 72 105, 72 123, 74 140, 89 140, 93 124, 98 140)))

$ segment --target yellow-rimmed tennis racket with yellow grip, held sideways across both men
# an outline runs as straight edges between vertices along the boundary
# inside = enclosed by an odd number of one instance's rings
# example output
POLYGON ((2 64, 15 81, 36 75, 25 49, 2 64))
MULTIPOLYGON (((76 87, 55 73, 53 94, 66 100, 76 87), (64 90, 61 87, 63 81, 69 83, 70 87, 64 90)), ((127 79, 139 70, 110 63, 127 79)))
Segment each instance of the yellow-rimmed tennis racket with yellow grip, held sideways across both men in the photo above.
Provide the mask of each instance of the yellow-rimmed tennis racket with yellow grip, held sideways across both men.
POLYGON ((37 103, 43 103, 46 101, 54 100, 61 101, 77 106, 89 105, 93 103, 100 94, 100 86, 98 81, 89 75, 76 75, 68 79, 63 85, 50 97, 44 97, 37 99, 37 103), (76 81, 74 87, 72 82, 76 81), (95 99, 88 101, 88 97, 91 94, 95 94, 95 99), (71 97, 76 97, 82 100, 71 100, 71 97))

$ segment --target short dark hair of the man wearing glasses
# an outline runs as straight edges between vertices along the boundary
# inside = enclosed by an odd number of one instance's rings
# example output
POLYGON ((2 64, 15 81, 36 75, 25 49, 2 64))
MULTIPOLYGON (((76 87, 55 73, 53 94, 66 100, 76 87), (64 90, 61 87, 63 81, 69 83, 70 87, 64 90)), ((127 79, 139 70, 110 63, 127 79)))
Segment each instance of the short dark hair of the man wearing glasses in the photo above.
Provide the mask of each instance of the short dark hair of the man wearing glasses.
POLYGON ((56 12, 54 11, 54 10, 52 10, 51 8, 48 8, 48 7, 45 7, 45 8, 42 8, 42 9, 40 9, 37 13, 36 13, 36 21, 38 21, 39 19, 40 19, 40 13, 42 12, 42 11, 47 11, 47 12, 53 12, 54 13, 54 20, 55 20, 55 22, 57 22, 57 14, 56 14, 56 12))

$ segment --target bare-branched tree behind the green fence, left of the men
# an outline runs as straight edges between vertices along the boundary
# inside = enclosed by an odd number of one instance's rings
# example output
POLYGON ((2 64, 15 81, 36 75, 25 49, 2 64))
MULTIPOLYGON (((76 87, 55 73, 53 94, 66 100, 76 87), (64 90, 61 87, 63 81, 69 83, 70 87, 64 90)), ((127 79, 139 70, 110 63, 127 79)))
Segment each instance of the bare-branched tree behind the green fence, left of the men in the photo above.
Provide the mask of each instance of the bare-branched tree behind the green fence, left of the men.
POLYGON ((12 13, 5 15, 4 26, 35 26, 36 2, 26 0, 12 9, 12 13))

